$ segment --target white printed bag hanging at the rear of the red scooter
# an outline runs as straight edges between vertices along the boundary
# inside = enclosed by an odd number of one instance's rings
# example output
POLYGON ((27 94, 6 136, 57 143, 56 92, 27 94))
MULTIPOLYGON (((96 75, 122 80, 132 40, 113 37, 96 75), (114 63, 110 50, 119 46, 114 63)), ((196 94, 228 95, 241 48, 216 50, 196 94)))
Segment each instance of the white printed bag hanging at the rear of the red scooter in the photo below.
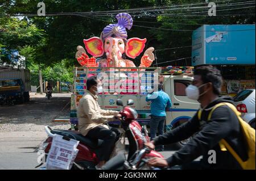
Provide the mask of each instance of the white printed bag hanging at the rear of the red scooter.
POLYGON ((49 150, 46 169, 47 170, 70 170, 78 153, 79 141, 68 139, 54 134, 51 149, 49 150))

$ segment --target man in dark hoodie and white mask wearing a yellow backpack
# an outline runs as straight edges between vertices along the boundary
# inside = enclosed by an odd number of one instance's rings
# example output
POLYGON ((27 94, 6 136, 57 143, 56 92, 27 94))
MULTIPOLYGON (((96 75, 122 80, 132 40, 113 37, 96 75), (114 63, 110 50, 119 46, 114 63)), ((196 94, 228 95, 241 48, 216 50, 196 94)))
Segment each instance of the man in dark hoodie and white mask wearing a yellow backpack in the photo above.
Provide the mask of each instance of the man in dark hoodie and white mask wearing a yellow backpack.
POLYGON ((255 169, 255 130, 241 121, 232 98, 219 96, 221 85, 221 73, 216 68, 200 66, 195 69, 186 94, 200 102, 200 110, 187 123, 145 145, 154 149, 155 145, 172 144, 193 136, 192 140, 170 158, 152 158, 148 165, 179 165, 181 169, 255 169), (194 161, 201 155, 200 161, 194 161))

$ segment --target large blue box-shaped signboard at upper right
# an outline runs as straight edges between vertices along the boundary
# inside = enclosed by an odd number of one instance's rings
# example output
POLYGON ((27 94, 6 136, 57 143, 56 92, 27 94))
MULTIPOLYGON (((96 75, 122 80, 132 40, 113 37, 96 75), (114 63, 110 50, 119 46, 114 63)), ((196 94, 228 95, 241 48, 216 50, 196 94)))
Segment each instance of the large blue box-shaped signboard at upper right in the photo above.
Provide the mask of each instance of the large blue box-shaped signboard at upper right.
POLYGON ((202 64, 255 64, 255 25, 204 25, 193 31, 192 66, 202 64))

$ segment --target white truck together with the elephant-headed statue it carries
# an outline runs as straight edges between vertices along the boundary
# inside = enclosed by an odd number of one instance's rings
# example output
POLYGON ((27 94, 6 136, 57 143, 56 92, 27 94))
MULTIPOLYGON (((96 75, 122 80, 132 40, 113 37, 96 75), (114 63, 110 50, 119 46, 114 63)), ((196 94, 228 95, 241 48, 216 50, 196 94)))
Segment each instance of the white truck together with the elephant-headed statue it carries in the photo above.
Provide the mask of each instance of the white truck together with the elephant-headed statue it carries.
MULTIPOLYGON (((77 46, 76 59, 82 67, 74 70, 71 121, 77 122, 76 109, 86 90, 86 79, 90 76, 97 77, 98 103, 102 109, 120 110, 121 107, 115 103, 118 98, 123 102, 133 99, 139 123, 149 124, 150 102, 146 102, 146 96, 148 92, 157 91, 158 82, 162 82, 164 91, 172 100, 172 107, 167 110, 166 129, 187 121, 199 108, 199 102, 185 95, 185 88, 192 81, 193 67, 151 67, 155 60, 153 47, 144 51, 141 63, 135 66, 133 60, 143 52, 147 39, 127 39, 126 30, 133 26, 133 18, 129 14, 120 13, 115 18, 117 23, 106 26, 100 37, 83 40, 86 50, 77 46)), ((118 121, 112 124, 118 124, 118 121)))

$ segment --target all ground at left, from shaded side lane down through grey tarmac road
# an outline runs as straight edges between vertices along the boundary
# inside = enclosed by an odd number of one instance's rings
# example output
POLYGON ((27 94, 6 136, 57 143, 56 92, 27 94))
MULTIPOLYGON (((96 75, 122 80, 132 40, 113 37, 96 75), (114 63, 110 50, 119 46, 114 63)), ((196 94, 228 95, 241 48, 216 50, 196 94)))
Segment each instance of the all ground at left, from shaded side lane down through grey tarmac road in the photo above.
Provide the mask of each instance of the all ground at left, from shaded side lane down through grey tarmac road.
MULTIPOLYGON (((44 125, 55 127, 53 117, 68 116, 69 105, 64 106, 69 96, 53 94, 47 100, 44 95, 32 95, 31 102, 26 104, 0 107, 0 169, 35 169, 35 149, 46 138, 44 125)), ((169 157, 174 152, 175 148, 168 146, 162 154, 169 157)))

